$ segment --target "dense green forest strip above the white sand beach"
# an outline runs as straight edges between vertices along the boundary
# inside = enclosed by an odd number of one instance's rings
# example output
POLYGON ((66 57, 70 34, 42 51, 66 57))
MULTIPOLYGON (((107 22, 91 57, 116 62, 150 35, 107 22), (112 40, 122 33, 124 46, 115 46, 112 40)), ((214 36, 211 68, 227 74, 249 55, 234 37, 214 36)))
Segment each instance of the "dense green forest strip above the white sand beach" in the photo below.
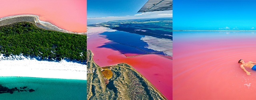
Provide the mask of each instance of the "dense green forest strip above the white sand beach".
POLYGON ((0 26, 0 54, 86 61, 86 35, 38 28, 30 22, 0 26))

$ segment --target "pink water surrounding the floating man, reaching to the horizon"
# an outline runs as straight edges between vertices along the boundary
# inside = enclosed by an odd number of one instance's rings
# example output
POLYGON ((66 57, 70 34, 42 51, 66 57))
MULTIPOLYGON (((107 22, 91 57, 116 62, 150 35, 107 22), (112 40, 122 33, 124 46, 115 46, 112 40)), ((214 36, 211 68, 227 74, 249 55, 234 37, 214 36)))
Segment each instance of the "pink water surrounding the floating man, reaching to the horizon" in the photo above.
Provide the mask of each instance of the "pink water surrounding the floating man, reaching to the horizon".
POLYGON ((256 32, 174 32, 174 100, 255 100, 256 32))

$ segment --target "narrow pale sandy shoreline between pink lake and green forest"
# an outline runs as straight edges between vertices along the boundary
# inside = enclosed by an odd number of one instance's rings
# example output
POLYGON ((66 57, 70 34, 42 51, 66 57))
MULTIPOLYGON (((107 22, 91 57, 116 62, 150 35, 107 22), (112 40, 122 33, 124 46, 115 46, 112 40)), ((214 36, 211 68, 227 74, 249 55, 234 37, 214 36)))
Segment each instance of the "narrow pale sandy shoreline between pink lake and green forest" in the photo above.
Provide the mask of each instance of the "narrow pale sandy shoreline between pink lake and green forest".
MULTIPOLYGON (((32 14, 7 16, 7 17, 0 18, 0 21, 6 20, 6 19, 9 19, 9 18, 26 17, 26 16, 34 17, 34 18, 36 19, 36 20, 34 20, 35 23, 36 23, 36 26, 38 26, 37 24, 40 23, 40 24, 43 24, 43 26, 47 26, 47 24, 50 24, 51 26, 54 26, 54 27, 58 28, 57 26, 51 24, 50 22, 44 22, 44 21, 39 20, 39 16, 37 16, 37 15, 32 15, 32 14)), ((58 28, 58 30, 55 30, 55 31, 64 31, 64 32, 66 32, 66 33, 85 34, 85 35, 86 35, 86 32, 70 32, 70 31, 68 31, 68 30, 64 30, 64 29, 60 29, 60 28, 58 28)))

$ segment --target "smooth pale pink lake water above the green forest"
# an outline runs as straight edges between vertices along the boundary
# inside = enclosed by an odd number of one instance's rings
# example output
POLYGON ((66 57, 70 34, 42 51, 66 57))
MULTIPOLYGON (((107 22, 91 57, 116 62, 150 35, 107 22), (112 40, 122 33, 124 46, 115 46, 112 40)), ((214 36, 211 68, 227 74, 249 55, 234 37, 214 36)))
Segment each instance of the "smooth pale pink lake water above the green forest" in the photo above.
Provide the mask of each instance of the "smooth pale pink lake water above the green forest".
POLYGON ((70 32, 86 32, 86 0, 1 0, 0 18, 33 14, 70 32))

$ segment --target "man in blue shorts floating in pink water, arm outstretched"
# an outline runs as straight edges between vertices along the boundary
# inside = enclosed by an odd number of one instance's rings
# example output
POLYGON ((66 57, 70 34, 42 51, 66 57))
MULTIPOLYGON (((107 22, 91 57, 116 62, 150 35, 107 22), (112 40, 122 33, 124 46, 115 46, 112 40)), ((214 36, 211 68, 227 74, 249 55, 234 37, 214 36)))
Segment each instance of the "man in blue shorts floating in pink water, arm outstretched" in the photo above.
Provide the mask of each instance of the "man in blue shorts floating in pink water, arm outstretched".
POLYGON ((246 72, 247 75, 251 75, 251 72, 248 72, 244 67, 247 68, 251 68, 252 70, 256 70, 256 62, 244 62, 244 60, 240 59, 238 61, 238 63, 240 63, 240 68, 242 68, 242 70, 244 70, 244 72, 246 72), (254 63, 254 64, 253 64, 254 63))

